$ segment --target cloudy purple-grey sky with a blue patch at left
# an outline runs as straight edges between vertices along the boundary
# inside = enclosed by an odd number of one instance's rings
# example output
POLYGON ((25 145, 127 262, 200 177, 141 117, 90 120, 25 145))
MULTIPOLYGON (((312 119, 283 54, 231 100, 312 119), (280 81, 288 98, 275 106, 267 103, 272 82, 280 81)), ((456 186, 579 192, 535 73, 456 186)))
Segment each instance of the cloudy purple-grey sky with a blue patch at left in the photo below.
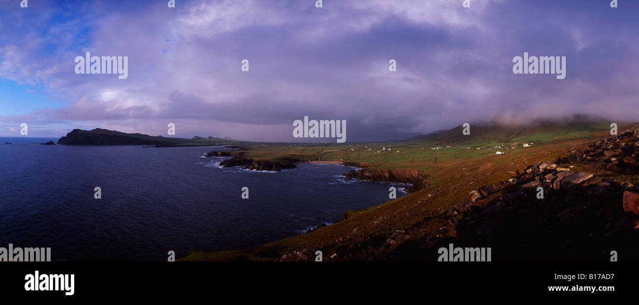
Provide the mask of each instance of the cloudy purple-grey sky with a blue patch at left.
POLYGON ((74 128, 294 138, 346 120, 347 141, 491 120, 591 114, 639 121, 639 1, 0 0, 0 136, 74 128), (75 57, 128 56, 128 77, 75 57), (566 78, 513 57, 566 56, 566 78), (242 60, 249 71, 242 71, 242 60), (389 61, 396 71, 389 71, 389 61))

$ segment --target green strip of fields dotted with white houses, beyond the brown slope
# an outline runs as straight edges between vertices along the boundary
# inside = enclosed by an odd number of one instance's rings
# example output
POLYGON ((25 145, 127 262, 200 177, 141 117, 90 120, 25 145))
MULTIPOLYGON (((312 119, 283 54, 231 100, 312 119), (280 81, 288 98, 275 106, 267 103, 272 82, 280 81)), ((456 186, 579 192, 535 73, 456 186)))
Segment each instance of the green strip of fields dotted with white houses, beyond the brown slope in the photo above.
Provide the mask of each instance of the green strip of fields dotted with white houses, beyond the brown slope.
POLYGON ((610 123, 477 125, 471 127, 470 135, 463 135, 459 126, 429 140, 415 142, 251 146, 246 156, 256 160, 344 160, 369 163, 369 168, 417 168, 430 171, 452 160, 495 156, 497 151, 504 152, 504 155, 520 153, 553 142, 604 135, 610 130, 609 126, 610 123), (534 144, 523 147, 525 142, 534 144), (512 145, 514 143, 517 145, 512 145))

